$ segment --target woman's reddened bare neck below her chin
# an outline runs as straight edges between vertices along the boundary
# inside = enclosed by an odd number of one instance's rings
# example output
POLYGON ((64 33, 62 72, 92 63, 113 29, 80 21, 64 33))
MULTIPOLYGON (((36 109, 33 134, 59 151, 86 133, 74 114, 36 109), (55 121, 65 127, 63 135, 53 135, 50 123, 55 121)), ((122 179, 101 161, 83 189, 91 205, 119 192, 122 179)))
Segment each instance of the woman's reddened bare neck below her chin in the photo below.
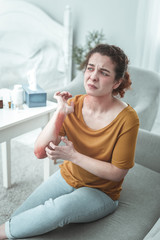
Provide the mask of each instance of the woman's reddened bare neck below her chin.
POLYGON ((115 102, 114 97, 106 97, 106 96, 91 96, 86 95, 84 99, 85 107, 94 112, 105 112, 110 109, 110 107, 115 102))

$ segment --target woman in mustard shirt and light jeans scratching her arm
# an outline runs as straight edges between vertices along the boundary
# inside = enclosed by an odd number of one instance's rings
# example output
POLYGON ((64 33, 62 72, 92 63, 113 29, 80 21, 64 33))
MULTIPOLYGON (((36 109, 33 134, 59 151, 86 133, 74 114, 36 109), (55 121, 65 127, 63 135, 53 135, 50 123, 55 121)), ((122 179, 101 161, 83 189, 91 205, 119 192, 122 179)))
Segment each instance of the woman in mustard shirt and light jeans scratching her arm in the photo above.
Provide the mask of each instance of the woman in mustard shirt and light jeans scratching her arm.
POLYGON ((57 110, 35 142, 38 158, 66 161, 0 227, 0 239, 95 221, 118 207, 139 128, 136 112, 117 98, 131 85, 128 58, 120 48, 101 44, 83 67, 86 94, 69 99, 70 93, 57 92, 57 110))

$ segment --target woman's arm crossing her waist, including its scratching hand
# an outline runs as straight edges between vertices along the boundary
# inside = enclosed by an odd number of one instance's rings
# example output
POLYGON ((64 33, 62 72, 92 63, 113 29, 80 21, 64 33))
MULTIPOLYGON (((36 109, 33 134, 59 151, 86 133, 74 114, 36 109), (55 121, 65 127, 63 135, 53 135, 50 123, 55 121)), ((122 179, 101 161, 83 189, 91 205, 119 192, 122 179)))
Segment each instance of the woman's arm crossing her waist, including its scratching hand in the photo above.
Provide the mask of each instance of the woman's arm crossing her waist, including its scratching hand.
POLYGON ((56 146, 52 142, 46 147, 46 154, 50 159, 67 159, 80 166, 86 171, 110 181, 121 181, 128 172, 128 169, 120 169, 109 162, 104 162, 77 152, 71 141, 65 137, 61 140, 65 146, 56 146), (52 149, 51 149, 52 148, 52 149))

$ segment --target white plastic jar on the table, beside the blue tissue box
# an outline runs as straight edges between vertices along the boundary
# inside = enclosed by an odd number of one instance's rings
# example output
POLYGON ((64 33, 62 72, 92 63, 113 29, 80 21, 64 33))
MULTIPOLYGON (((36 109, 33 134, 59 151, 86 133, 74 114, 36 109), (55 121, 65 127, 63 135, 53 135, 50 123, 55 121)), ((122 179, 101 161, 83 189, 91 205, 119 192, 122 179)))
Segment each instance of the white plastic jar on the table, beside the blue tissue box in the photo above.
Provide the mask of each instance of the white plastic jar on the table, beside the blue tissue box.
POLYGON ((12 91, 12 99, 15 108, 22 108, 24 103, 24 90, 22 85, 16 84, 14 85, 12 91))

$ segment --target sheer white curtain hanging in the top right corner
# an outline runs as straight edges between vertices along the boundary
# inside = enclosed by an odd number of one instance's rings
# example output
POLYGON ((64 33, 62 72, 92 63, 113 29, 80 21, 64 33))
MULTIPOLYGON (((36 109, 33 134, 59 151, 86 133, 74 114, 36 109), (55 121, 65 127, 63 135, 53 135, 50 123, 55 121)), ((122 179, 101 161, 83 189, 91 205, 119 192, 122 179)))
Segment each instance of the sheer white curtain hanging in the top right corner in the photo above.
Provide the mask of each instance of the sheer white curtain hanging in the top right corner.
POLYGON ((139 0, 136 65, 160 73, 160 1, 139 0))

